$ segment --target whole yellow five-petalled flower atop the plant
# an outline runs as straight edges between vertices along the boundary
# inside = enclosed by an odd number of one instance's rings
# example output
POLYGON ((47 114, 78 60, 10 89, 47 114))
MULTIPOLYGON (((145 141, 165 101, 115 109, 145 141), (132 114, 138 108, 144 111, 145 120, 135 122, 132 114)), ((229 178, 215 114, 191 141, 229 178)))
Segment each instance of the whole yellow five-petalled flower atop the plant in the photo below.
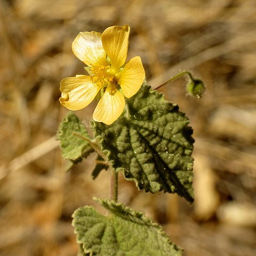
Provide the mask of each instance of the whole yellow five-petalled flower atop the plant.
POLYGON ((145 70, 140 57, 125 64, 130 27, 107 28, 103 33, 81 32, 72 44, 76 57, 88 67, 87 75, 64 78, 60 83, 60 103, 70 110, 88 106, 101 92, 93 119, 111 124, 122 114, 125 99, 140 89, 145 70))

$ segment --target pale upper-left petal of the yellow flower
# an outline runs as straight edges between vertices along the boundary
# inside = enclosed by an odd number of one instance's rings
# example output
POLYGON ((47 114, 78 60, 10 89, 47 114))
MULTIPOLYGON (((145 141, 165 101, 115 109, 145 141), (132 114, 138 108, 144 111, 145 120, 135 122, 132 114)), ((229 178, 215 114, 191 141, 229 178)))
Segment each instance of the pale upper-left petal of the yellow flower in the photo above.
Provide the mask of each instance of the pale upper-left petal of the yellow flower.
POLYGON ((72 50, 87 66, 108 66, 106 52, 101 43, 101 33, 80 32, 72 43, 72 50))

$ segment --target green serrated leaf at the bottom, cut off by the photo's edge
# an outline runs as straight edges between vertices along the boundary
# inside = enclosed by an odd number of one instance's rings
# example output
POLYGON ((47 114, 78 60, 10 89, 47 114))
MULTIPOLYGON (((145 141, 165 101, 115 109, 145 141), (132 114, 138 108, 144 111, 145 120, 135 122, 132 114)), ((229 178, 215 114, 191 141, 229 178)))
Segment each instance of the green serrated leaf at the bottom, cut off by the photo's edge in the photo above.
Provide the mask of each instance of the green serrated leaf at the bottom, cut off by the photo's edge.
POLYGON ((96 200, 110 211, 107 217, 91 206, 81 207, 73 214, 77 243, 83 245, 85 253, 100 256, 182 255, 182 249, 144 213, 114 201, 96 200))

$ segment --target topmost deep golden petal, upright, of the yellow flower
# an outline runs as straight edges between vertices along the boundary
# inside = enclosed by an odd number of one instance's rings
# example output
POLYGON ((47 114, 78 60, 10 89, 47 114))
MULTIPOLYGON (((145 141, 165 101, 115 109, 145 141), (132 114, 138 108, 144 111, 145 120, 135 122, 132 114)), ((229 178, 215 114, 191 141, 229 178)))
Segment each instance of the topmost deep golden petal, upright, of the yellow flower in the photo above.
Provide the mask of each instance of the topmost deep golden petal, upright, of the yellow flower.
POLYGON ((129 33, 130 27, 128 25, 109 27, 102 33, 103 48, 111 61, 112 68, 116 72, 126 61, 129 33))

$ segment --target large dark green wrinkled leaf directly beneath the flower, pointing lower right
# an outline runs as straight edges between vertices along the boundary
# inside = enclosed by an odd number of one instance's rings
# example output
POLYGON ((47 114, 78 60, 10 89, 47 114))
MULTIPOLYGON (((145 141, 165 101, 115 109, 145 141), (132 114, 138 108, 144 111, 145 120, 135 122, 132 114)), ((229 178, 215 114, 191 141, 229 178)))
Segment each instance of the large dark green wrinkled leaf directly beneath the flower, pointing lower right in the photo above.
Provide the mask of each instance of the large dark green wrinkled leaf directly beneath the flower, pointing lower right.
POLYGON ((164 190, 193 202, 194 140, 188 118, 148 85, 127 100, 127 109, 111 125, 92 122, 113 168, 146 192, 164 190))

